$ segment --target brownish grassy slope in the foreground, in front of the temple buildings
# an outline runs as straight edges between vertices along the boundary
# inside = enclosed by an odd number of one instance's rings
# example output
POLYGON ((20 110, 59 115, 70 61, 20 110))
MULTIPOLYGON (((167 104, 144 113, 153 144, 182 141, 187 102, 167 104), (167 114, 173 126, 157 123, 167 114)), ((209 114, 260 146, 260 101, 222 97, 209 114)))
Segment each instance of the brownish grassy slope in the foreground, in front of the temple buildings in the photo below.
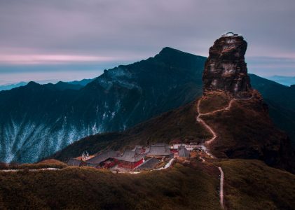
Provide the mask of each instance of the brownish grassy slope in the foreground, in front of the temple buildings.
POLYGON ((177 163, 162 171, 113 174, 89 167, 0 172, 0 209, 294 209, 295 175, 259 160, 177 163))

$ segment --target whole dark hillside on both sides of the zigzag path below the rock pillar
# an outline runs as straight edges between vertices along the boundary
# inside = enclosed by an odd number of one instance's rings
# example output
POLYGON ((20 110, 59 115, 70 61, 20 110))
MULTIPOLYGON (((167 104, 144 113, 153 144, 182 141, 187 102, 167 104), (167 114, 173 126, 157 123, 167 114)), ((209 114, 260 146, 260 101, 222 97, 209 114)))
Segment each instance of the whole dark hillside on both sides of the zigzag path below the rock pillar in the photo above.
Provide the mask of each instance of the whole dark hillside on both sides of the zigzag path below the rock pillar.
MULTIPOLYGON (((228 96, 217 92, 202 98, 201 113, 228 106, 228 96), (204 99, 205 98, 205 99, 204 99), (214 106, 212 106, 214 104, 214 106), (205 110, 203 110, 205 109, 205 110)), ((97 134, 76 141, 52 158, 67 160, 91 154, 105 148, 132 148, 137 144, 167 142, 173 139, 202 141, 210 134, 203 125, 196 122, 197 102, 191 102, 179 109, 164 113, 123 133, 97 134)), ((259 159, 268 165, 294 172, 294 154, 287 136, 277 130, 268 116, 266 104, 261 95, 254 91, 254 98, 233 102, 231 109, 220 111, 203 120, 217 132, 217 141, 212 144, 212 153, 218 158, 259 159)))

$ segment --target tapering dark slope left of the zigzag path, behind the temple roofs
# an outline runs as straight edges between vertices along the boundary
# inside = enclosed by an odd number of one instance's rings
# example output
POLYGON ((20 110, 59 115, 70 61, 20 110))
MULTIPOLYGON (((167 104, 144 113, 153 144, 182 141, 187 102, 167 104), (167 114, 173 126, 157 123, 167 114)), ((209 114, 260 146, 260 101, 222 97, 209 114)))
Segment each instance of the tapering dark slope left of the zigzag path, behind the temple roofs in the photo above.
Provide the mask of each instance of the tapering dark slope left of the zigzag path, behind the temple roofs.
POLYGON ((66 160, 81 155, 83 151, 93 154, 105 148, 123 149, 125 146, 132 148, 137 144, 146 145, 156 141, 169 143, 173 139, 202 141, 203 138, 209 138, 210 134, 196 122, 195 104, 192 102, 174 111, 163 113, 122 133, 85 137, 56 153, 53 158, 66 160))

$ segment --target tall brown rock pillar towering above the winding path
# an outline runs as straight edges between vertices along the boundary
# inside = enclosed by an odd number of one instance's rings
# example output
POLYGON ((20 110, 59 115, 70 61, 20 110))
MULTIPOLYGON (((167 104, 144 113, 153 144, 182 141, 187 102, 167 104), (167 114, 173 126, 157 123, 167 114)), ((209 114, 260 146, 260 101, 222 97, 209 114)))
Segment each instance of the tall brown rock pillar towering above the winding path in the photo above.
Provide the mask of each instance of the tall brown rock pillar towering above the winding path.
POLYGON ((247 42, 238 34, 221 36, 209 50, 203 72, 203 91, 224 91, 233 97, 245 97, 251 90, 245 52, 247 42))

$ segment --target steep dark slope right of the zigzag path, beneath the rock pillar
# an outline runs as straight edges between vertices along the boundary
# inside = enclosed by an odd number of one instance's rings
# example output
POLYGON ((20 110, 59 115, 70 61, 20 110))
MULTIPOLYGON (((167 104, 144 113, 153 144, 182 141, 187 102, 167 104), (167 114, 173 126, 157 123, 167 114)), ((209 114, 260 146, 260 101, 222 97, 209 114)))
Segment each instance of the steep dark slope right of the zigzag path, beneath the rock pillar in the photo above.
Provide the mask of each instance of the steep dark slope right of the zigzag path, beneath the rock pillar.
POLYGON ((217 157, 259 159, 294 172, 290 141, 275 128, 256 91, 253 99, 233 102, 230 110, 202 118, 217 132, 211 146, 217 157))

